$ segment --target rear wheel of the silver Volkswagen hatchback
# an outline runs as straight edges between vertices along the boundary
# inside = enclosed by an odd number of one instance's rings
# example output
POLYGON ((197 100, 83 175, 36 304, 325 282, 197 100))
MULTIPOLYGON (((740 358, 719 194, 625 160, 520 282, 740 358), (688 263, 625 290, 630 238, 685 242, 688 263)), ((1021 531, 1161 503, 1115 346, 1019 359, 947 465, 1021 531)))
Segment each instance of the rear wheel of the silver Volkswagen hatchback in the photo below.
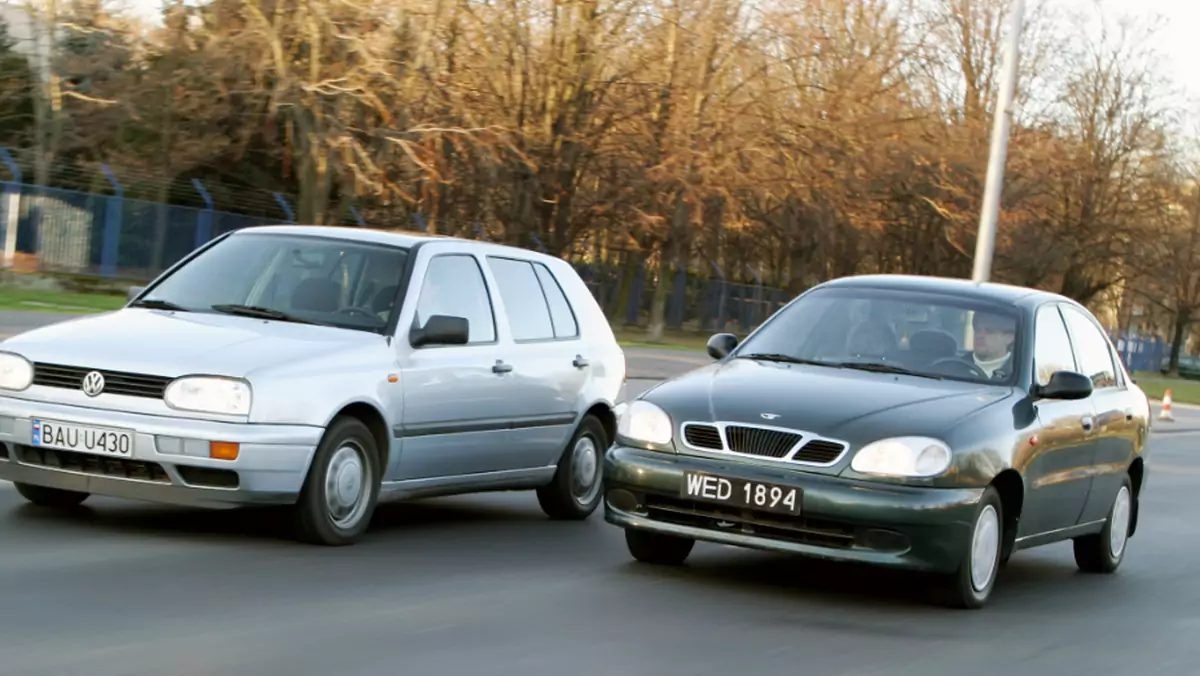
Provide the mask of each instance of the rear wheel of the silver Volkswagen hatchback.
POLYGON ((601 467, 608 450, 608 433, 600 419, 583 417, 558 459, 554 478, 538 489, 538 504, 551 519, 583 520, 600 505, 601 467))

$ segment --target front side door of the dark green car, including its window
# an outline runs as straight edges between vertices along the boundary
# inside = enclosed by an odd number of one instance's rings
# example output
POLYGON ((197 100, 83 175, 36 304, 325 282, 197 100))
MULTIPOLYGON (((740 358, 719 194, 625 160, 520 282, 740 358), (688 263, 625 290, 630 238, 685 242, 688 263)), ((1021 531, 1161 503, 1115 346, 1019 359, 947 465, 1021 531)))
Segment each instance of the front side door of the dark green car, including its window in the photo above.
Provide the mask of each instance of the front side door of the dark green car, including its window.
MULTIPOLYGON (((1055 371, 1079 371, 1078 351, 1057 303, 1037 310, 1033 334, 1033 382, 1044 385, 1055 371)), ((1019 537, 1074 526, 1091 487, 1096 456, 1096 411, 1092 399, 1034 401, 1040 429, 1037 443, 1016 457, 1025 477, 1025 507, 1019 537)))

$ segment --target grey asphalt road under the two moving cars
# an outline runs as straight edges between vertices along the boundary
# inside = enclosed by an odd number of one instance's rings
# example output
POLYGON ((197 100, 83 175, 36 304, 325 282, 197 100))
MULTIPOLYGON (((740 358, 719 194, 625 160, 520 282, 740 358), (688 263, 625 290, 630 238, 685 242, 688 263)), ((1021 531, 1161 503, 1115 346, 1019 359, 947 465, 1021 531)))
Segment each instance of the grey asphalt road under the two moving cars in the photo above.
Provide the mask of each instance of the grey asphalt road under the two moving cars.
MULTIPOLYGON (((697 359, 630 353, 631 372, 697 359)), ((322 549, 274 509, 58 514, 0 484, 0 675, 1180 676, 1200 659, 1200 426, 1181 423, 1153 435, 1118 574, 1019 552, 978 612, 912 575, 715 545, 636 564, 599 514, 551 522, 532 493, 384 505, 322 549)))

